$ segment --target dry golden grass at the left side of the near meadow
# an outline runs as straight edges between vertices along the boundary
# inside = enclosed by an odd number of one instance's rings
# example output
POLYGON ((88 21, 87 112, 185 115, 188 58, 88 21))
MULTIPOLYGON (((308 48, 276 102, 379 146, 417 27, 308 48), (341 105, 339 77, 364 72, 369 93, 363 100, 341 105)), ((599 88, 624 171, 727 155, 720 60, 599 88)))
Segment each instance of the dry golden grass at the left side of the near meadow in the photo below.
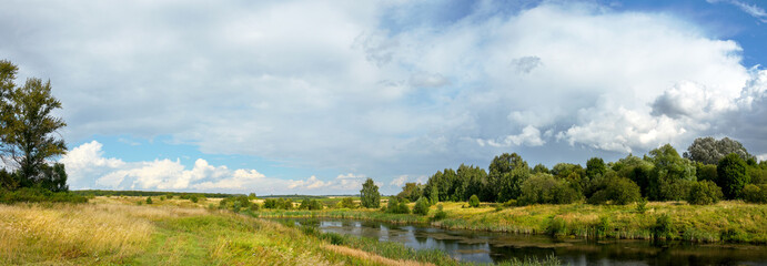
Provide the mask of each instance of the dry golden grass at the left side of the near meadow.
MULTIPOLYGON (((0 205, 0 263, 91 257, 119 263, 149 242, 152 221, 204 209, 120 204, 0 205)), ((77 263, 75 263, 77 264, 77 263)))

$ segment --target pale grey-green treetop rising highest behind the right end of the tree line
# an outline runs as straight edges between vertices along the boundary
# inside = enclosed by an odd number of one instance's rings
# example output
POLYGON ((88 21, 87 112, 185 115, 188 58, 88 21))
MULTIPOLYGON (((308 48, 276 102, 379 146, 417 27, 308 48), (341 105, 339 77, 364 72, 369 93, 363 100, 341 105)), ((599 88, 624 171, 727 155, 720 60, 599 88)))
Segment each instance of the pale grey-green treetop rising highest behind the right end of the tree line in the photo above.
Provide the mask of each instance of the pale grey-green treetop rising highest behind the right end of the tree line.
POLYGON ((729 137, 724 137, 717 141, 710 136, 695 139, 693 144, 687 147, 687 152, 685 152, 684 156, 692 161, 704 164, 717 164, 719 160, 730 153, 737 154, 744 161, 754 157, 753 155, 748 154, 748 151, 746 151, 743 144, 740 144, 738 141, 729 137))

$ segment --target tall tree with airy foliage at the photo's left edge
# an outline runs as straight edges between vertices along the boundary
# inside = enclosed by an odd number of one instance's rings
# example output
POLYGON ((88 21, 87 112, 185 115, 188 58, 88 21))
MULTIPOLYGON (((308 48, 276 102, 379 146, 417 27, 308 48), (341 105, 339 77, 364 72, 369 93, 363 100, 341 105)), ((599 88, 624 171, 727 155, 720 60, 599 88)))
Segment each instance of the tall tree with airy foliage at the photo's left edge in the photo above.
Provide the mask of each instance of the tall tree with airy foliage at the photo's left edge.
POLYGON ((51 94, 51 82, 30 78, 16 88, 12 79, 17 70, 10 62, 0 61, 0 155, 6 165, 18 168, 19 185, 23 187, 42 182, 48 160, 67 152, 64 141, 55 134, 67 124, 51 114, 61 109, 61 102, 51 94))

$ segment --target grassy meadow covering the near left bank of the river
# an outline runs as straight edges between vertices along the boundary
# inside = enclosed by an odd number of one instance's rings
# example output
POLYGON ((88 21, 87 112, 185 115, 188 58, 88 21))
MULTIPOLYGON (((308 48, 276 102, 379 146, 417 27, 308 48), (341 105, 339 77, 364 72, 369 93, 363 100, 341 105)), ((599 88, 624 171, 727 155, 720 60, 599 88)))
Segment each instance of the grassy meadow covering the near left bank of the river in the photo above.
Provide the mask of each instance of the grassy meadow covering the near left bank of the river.
POLYGON ((436 250, 209 207, 218 201, 153 198, 150 205, 145 197, 99 196, 88 204, 0 205, 0 264, 461 265, 436 250))

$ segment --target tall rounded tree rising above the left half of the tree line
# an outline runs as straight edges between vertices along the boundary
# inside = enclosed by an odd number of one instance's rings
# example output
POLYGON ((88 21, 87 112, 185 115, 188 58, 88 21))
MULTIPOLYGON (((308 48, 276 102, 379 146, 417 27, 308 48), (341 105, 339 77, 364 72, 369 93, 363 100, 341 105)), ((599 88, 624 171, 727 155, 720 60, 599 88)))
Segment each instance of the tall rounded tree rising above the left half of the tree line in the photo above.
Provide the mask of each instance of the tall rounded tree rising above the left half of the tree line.
POLYGON ((487 181, 493 188, 495 202, 519 197, 519 186, 531 174, 527 162, 516 153, 495 156, 488 168, 487 181))

